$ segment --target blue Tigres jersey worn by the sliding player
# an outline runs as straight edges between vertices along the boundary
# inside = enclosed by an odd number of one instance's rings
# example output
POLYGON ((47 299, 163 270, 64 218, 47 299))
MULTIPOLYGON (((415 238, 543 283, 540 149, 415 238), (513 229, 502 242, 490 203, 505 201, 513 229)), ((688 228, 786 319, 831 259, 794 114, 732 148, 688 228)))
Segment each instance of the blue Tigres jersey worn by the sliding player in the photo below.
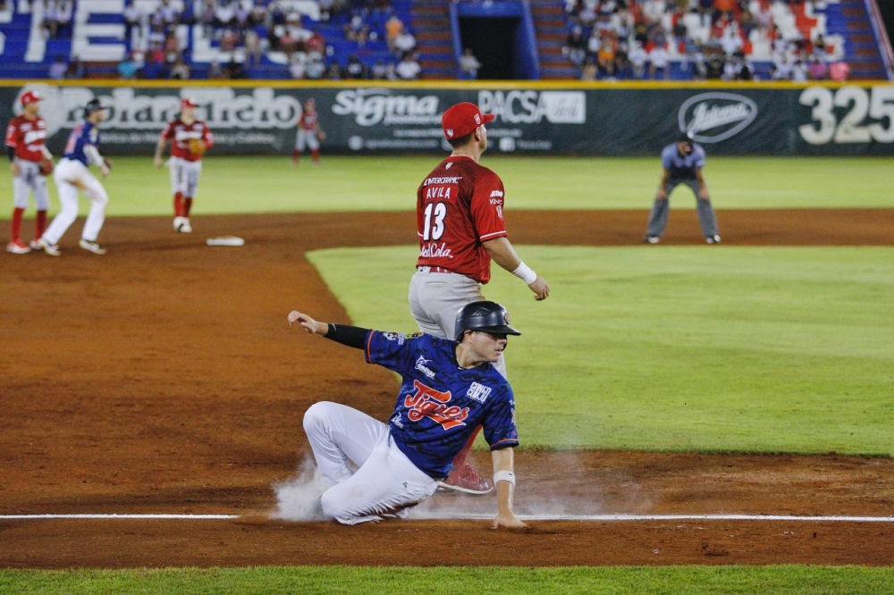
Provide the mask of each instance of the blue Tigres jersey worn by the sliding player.
POLYGON ((487 362, 461 369, 453 341, 421 332, 369 331, 366 358, 401 375, 389 422, 392 437, 430 477, 447 477, 453 457, 479 425, 491 448, 518 446, 509 382, 487 362))

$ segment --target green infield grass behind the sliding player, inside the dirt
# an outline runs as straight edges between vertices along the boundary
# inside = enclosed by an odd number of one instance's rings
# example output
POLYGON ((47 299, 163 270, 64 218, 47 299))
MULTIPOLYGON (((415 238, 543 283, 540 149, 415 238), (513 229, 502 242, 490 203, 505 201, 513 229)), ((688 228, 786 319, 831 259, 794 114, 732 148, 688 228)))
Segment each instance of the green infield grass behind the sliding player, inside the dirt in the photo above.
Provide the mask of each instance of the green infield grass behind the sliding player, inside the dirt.
MULTIPOLYGON (((499 270, 485 295, 524 332, 507 353, 523 446, 894 454, 894 249, 519 252, 551 297, 499 270)), ((355 323, 413 331, 415 256, 309 258, 355 323)))

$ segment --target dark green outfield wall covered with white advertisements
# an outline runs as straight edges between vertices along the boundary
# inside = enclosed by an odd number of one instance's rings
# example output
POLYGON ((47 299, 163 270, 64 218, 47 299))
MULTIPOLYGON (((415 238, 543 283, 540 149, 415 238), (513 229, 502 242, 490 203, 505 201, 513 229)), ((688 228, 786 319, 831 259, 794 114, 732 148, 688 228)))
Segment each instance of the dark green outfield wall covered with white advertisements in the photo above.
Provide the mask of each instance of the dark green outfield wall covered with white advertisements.
POLYGON ((0 88, 7 117, 36 90, 55 153, 97 96, 104 153, 150 157, 180 100, 215 135, 211 155, 290 155, 301 105, 316 99, 329 154, 450 150, 441 114, 460 101, 496 118, 489 151, 521 155, 656 155, 688 134, 714 155, 894 155, 894 85, 804 88, 0 88))

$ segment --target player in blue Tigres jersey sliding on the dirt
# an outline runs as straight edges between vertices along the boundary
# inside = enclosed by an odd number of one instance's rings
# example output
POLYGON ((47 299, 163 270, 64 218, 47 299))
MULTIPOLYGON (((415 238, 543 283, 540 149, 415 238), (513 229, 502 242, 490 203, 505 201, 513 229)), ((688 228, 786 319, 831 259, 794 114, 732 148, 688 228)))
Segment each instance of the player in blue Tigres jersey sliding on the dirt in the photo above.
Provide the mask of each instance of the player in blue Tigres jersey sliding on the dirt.
POLYGON ((453 457, 477 427, 491 447, 498 512, 494 528, 526 525, 512 511, 515 490, 515 398, 493 366, 508 335, 519 335, 506 310, 477 301, 455 315, 456 335, 439 339, 320 323, 292 311, 289 324, 342 345, 363 349, 367 363, 401 375, 388 424, 349 406, 319 402, 304 415, 320 473, 333 484, 323 513, 342 524, 404 518, 447 476, 453 457), (352 471, 350 464, 356 465, 352 471))

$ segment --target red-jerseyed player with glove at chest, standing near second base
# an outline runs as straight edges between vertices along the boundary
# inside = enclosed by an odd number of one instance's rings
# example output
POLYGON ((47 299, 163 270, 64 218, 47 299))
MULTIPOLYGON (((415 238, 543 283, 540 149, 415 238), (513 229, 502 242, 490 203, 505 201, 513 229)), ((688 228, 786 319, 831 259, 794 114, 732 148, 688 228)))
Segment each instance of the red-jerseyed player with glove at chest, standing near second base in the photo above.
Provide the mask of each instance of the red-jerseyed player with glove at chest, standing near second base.
POLYGON ((171 142, 171 192, 173 193, 173 230, 190 233, 190 209, 202 175, 202 156, 214 146, 214 137, 205 122, 196 119, 198 104, 186 98, 180 102, 180 117, 168 122, 156 145, 156 167, 164 163, 164 146, 171 142))

